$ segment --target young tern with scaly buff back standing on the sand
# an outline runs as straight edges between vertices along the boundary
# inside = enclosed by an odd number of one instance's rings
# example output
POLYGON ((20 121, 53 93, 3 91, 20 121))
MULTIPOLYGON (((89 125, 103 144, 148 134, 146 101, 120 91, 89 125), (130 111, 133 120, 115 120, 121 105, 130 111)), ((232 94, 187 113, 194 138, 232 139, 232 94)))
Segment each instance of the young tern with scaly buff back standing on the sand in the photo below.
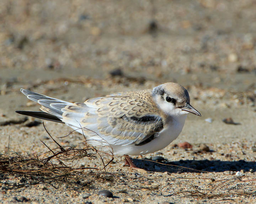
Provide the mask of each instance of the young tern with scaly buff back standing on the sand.
POLYGON ((126 165, 137 168, 128 155, 144 155, 165 148, 178 135, 188 113, 201 116, 191 106, 188 91, 177 83, 153 89, 118 92, 71 103, 20 89, 41 105, 42 112, 16 113, 64 123, 83 134, 87 143, 110 147, 113 155, 124 155, 126 165))

